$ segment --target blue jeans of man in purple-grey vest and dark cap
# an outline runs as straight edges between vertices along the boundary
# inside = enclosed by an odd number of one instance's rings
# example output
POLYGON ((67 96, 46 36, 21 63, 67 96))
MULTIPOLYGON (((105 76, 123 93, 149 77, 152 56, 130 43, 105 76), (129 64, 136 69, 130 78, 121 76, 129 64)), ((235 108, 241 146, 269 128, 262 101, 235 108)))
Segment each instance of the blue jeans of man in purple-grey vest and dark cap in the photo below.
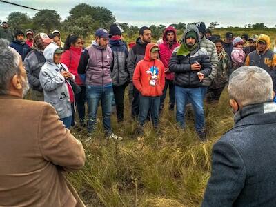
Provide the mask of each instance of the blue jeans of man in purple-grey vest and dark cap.
POLYGON ((95 130, 95 125, 97 122, 97 110, 100 100, 104 130, 106 134, 112 132, 110 121, 113 99, 112 85, 86 86, 86 99, 88 103, 88 132, 95 130))

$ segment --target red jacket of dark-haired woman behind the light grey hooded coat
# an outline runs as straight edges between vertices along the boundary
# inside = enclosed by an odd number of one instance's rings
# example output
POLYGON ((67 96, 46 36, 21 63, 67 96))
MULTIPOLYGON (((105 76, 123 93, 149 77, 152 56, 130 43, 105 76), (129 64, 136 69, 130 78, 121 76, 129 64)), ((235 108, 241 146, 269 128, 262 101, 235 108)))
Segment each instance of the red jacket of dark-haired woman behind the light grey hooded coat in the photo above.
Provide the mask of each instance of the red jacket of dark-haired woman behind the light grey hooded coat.
POLYGON ((61 63, 66 64, 68 70, 75 75, 76 83, 78 85, 83 85, 78 73, 77 68, 79 66, 79 59, 81 59, 82 48, 75 48, 74 46, 70 46, 69 50, 66 50, 61 55, 61 63))

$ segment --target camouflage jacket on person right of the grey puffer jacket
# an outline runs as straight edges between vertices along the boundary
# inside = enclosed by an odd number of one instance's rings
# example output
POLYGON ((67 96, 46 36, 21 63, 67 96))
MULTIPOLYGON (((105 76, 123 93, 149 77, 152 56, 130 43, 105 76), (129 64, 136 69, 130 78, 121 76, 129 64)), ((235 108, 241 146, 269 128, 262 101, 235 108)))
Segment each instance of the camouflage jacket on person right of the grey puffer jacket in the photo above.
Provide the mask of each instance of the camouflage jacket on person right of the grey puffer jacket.
POLYGON ((218 54, 219 63, 217 66, 217 77, 213 80, 210 88, 222 88, 228 82, 230 68, 231 68, 231 61, 229 55, 222 50, 221 53, 218 54))

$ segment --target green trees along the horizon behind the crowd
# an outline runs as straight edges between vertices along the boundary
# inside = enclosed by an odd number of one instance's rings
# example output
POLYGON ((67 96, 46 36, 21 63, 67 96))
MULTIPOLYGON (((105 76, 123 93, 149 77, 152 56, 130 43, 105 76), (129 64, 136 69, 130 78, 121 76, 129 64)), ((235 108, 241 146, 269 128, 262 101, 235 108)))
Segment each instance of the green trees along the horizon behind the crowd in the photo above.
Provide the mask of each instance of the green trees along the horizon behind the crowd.
MULTIPOLYGON (((77 34, 83 38, 89 37, 97 28, 110 27, 110 24, 116 22, 115 15, 108 8, 102 6, 90 6, 86 3, 80 3, 72 8, 69 16, 61 21, 60 14, 55 10, 41 10, 34 17, 28 17, 28 14, 22 12, 11 12, 7 18, 8 24, 12 30, 26 30, 31 28, 34 31, 50 33, 52 30, 61 30, 66 34, 77 34)), ((132 26, 128 23, 118 23, 124 30, 127 37, 136 37, 139 32, 139 27, 132 26)), ((182 34, 186 28, 186 23, 172 23, 178 30, 178 34, 182 34)), ((218 28, 217 21, 211 22, 208 28, 210 29, 225 29, 218 28)), ((159 24, 158 26, 151 25, 152 37, 158 39, 166 26, 159 24)), ((245 24, 244 28, 228 26, 229 30, 267 30, 268 27, 264 23, 245 24)), ((276 30, 276 25, 273 30, 276 30)))

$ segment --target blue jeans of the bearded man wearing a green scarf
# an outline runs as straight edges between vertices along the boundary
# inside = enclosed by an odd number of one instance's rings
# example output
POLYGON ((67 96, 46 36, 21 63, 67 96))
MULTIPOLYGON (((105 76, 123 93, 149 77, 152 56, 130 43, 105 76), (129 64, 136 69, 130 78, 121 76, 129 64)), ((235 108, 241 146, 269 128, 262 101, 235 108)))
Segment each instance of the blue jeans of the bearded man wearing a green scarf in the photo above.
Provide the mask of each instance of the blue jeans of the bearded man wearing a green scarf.
POLYGON ((192 103, 195 112, 195 129, 204 130, 204 108, 201 88, 182 88, 175 86, 175 99, 177 102, 177 122, 181 128, 185 127, 185 107, 187 99, 192 103))

